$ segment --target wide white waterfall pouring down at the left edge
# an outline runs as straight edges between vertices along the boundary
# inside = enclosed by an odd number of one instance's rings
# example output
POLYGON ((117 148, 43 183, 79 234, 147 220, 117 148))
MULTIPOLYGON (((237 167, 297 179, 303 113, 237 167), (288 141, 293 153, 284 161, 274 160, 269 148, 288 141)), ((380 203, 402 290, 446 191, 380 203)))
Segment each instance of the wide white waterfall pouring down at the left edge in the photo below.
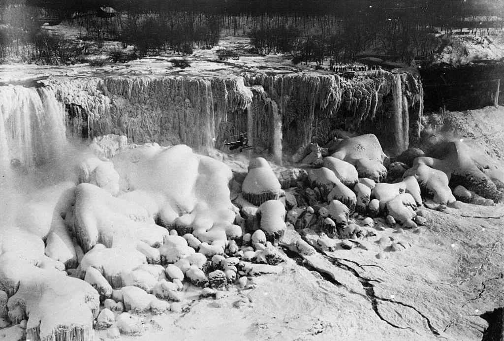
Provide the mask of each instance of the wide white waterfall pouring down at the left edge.
POLYGON ((0 172, 54 162, 67 144, 65 110, 51 90, 0 87, 0 172))

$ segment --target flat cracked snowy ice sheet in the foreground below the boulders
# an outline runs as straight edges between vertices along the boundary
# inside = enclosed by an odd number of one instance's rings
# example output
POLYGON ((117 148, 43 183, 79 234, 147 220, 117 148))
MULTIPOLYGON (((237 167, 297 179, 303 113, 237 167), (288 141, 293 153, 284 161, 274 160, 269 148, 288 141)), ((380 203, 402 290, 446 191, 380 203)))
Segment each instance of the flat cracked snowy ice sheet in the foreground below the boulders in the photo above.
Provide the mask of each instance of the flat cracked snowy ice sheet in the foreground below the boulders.
POLYGON ((486 322, 479 315, 504 304, 504 207, 427 211, 419 234, 387 228, 366 240, 369 250, 326 253, 337 265, 328 261, 322 271, 289 260, 279 276, 257 278, 253 290, 196 300, 186 313, 146 315, 146 334, 121 339, 480 340, 486 322), (411 247, 383 251, 377 240, 384 236, 411 247), (351 285, 337 283, 344 281, 351 285))

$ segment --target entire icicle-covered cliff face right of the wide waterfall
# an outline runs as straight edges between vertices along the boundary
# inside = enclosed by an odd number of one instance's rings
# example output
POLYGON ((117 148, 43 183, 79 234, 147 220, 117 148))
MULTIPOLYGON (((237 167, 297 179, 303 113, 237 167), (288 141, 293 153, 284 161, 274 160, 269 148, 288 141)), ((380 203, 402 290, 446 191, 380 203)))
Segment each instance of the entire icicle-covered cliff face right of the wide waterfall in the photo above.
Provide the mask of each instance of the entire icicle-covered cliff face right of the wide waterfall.
POLYGON ((125 134, 135 143, 223 147, 248 133, 276 159, 337 128, 372 132, 400 153, 420 132, 423 90, 409 73, 338 75, 245 73, 226 78, 149 76, 46 81, 65 103, 68 132, 125 134))

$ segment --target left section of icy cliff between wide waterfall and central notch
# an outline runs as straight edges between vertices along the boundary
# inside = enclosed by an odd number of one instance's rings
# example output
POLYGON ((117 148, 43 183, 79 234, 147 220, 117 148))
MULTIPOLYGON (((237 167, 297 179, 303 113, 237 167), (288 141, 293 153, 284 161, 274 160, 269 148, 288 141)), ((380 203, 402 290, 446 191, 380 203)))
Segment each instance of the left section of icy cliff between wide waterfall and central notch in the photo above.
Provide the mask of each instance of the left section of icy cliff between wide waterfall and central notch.
POLYGON ((242 115, 252 102, 252 93, 240 78, 59 79, 51 87, 66 104, 73 133, 114 132, 135 143, 213 146, 214 139, 226 133, 220 122, 242 115))

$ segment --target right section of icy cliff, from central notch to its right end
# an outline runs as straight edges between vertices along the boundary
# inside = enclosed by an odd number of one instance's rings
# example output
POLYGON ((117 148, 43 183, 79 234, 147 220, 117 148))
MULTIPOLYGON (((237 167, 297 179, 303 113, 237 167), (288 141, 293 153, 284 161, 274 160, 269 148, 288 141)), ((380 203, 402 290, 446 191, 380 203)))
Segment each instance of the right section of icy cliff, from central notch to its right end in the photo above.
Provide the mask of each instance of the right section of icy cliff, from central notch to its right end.
MULTIPOLYGON (((303 74, 244 74, 243 78, 263 89, 258 97, 263 107, 269 108, 269 102, 278 106, 287 151, 310 142, 325 144, 331 131, 341 128, 372 132, 394 154, 407 149, 420 134, 423 89, 408 73, 374 71, 352 79, 303 74)), ((264 113, 257 110, 252 116, 261 120, 264 113)), ((263 139, 259 145, 267 144, 263 139)))

